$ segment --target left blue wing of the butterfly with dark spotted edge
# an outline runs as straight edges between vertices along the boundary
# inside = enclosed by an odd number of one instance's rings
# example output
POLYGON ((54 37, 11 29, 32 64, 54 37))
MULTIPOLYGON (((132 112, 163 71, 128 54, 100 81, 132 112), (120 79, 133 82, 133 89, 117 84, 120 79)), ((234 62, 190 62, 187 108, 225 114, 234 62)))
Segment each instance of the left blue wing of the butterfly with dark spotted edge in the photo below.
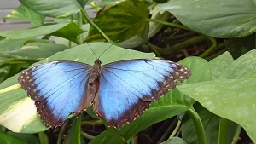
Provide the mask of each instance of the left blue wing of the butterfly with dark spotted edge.
POLYGON ((44 124, 55 127, 90 106, 93 97, 86 96, 90 68, 74 61, 54 61, 21 72, 18 81, 35 101, 44 124))

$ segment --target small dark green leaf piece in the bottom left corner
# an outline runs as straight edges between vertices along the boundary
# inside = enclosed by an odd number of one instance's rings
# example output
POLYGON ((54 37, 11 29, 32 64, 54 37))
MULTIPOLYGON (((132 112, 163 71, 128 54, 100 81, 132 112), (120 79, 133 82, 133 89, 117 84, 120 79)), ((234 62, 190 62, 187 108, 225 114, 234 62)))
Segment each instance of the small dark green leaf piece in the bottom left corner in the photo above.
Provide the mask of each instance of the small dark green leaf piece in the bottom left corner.
POLYGON ((28 144, 26 141, 20 140, 19 138, 0 132, 0 143, 3 144, 28 144))

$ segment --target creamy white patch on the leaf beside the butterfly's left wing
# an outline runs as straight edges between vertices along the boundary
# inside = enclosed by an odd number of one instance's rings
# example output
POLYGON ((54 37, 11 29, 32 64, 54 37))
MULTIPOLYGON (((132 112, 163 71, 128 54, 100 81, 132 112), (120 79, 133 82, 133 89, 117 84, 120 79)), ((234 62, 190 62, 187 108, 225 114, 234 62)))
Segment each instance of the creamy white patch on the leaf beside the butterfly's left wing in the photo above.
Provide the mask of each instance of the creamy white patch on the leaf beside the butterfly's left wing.
POLYGON ((14 132, 25 129, 26 124, 30 124, 38 117, 37 107, 30 97, 14 102, 9 108, 1 113, 0 124, 14 132))

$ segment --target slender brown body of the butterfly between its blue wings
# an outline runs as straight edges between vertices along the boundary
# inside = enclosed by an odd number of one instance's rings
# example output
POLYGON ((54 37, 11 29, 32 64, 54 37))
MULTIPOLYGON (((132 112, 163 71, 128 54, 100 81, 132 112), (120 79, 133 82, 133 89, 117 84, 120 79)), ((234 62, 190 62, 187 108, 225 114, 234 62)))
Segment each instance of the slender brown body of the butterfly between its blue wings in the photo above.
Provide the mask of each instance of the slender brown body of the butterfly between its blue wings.
POLYGON ((94 65, 90 70, 90 78, 88 84, 94 85, 97 84, 100 76, 100 68, 101 68, 102 61, 97 59, 94 61, 94 65))

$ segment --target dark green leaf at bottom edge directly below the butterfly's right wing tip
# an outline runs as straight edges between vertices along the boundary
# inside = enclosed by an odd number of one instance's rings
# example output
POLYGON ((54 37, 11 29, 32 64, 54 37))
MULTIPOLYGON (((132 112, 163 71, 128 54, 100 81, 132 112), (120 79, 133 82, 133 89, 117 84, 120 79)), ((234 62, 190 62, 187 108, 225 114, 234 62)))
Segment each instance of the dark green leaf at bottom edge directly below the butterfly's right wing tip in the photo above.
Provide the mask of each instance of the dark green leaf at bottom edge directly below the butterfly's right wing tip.
POLYGON ((124 138, 119 134, 119 131, 114 128, 108 128, 102 134, 97 135, 96 139, 89 142, 89 144, 113 144, 124 143, 124 138))

